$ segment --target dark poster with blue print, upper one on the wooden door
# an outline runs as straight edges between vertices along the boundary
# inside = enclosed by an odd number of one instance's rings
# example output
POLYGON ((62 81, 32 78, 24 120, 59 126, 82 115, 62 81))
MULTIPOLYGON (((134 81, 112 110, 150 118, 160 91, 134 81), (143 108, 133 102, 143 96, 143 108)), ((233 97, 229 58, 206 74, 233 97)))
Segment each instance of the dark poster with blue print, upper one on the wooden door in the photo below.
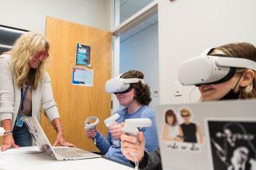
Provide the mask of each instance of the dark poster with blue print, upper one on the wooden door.
POLYGON ((91 48, 89 45, 77 43, 75 65, 91 66, 91 48))

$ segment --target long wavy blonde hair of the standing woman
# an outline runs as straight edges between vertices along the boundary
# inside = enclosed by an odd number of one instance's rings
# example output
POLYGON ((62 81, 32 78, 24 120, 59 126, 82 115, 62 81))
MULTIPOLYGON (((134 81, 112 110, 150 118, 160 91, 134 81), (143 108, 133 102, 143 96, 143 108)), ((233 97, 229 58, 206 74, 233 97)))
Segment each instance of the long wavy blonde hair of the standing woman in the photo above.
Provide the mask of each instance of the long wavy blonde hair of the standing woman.
POLYGON ((15 84, 22 87, 28 81, 32 89, 37 89, 45 73, 46 60, 42 60, 37 69, 30 69, 29 62, 39 51, 49 51, 50 44, 41 34, 27 32, 22 34, 7 52, 11 55, 11 67, 14 72, 15 84))

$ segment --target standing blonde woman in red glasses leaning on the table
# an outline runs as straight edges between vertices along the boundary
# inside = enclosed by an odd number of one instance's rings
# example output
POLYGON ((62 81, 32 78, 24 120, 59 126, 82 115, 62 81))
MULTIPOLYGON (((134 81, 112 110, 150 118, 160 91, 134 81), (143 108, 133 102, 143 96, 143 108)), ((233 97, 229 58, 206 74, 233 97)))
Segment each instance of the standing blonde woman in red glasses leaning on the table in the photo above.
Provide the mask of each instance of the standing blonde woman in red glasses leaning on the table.
POLYGON ((22 34, 10 51, 0 56, 0 121, 6 132, 1 150, 31 146, 32 137, 22 117, 37 117, 44 109, 57 136, 54 145, 74 146, 64 139, 57 104, 46 73, 49 42, 40 34, 22 34))

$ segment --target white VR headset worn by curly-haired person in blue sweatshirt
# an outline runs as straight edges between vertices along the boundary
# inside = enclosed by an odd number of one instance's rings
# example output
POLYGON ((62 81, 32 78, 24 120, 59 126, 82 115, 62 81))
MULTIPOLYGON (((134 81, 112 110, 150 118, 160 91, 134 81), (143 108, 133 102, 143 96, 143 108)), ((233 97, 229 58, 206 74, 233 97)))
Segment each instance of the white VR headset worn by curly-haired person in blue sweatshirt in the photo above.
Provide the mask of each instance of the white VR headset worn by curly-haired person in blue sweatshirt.
POLYGON ((133 88, 133 83, 138 83, 139 81, 143 84, 145 83, 141 78, 121 78, 122 74, 106 81, 105 89, 107 93, 126 93, 133 88))

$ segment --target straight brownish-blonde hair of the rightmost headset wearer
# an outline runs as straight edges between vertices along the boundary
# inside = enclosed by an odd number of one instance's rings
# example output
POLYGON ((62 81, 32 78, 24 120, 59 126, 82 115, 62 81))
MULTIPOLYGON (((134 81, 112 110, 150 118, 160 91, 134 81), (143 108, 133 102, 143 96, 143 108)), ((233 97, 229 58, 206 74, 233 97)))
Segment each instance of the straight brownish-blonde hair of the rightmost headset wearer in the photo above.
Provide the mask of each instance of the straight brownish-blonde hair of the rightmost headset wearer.
MULTIPOLYGON (((209 54, 224 54, 228 57, 246 58, 256 62, 256 48, 254 45, 246 42, 222 45, 214 48, 209 54)), ((236 73, 242 73, 245 69, 237 69, 236 73)), ((256 98, 256 72, 254 71, 254 80, 250 85, 239 90, 239 98, 256 98)))

